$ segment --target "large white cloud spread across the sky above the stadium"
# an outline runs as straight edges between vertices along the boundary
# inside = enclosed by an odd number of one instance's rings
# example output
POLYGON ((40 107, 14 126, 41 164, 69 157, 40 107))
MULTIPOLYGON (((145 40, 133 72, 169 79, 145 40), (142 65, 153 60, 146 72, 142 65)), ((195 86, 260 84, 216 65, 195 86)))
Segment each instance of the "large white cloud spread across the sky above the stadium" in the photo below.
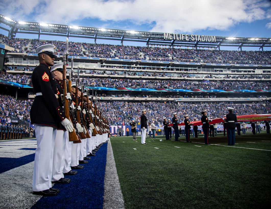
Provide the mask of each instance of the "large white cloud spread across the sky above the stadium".
POLYGON ((4 2, 1 11, 13 11, 10 15, 16 20, 69 24, 88 18, 88 25, 92 26, 91 19, 98 18, 107 25, 108 21, 131 21, 149 24, 153 32, 189 33, 227 30, 240 22, 263 20, 268 18, 266 9, 270 6, 267 0, 24 0, 27 5, 21 0, 4 2))

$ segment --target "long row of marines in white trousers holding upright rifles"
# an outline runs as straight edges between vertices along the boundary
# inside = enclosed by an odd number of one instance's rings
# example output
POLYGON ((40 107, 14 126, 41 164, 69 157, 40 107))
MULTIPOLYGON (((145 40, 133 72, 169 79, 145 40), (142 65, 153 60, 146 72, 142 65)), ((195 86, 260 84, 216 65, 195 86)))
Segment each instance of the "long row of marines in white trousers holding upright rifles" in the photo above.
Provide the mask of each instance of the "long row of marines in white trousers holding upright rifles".
POLYGON ((30 118, 37 139, 32 190, 43 196, 60 192, 52 183, 70 183, 64 175, 76 175, 75 170, 83 169, 79 164, 88 163, 110 133, 96 103, 66 79, 68 40, 63 63, 54 64, 55 48, 47 44, 36 49, 40 65, 31 77, 36 97, 30 118))

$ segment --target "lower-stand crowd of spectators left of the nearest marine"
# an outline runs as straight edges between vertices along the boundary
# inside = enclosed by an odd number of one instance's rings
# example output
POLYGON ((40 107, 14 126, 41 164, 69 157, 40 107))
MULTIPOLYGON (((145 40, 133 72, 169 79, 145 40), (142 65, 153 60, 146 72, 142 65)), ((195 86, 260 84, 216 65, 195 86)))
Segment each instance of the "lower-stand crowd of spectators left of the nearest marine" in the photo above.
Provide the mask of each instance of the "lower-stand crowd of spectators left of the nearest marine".
POLYGON ((17 100, 15 97, 0 94, 0 115, 30 122, 30 108, 32 103, 32 99, 17 100))

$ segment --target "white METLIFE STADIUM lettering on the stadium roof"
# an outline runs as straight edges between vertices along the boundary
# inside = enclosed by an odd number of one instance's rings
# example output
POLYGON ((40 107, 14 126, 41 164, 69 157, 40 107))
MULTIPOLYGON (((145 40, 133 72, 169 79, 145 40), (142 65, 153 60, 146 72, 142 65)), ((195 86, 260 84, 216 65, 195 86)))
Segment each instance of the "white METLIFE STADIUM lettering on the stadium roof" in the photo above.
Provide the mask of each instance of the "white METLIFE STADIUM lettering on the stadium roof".
POLYGON ((164 39, 180 41, 216 42, 215 36, 164 33, 164 39))

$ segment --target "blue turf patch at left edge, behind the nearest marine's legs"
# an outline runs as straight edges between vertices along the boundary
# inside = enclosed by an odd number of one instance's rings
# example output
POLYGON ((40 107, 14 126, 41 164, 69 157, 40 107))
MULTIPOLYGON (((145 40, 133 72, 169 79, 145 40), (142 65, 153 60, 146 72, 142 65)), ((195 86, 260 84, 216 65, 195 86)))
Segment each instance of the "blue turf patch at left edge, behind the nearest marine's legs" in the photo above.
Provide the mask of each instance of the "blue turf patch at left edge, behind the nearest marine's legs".
POLYGON ((35 153, 31 155, 26 155, 24 157, 19 157, 19 158, 1 157, 0 158, 0 173, 6 172, 13 168, 17 168, 21 165, 25 165, 29 162, 32 162, 34 161, 34 158, 35 158, 35 153))

